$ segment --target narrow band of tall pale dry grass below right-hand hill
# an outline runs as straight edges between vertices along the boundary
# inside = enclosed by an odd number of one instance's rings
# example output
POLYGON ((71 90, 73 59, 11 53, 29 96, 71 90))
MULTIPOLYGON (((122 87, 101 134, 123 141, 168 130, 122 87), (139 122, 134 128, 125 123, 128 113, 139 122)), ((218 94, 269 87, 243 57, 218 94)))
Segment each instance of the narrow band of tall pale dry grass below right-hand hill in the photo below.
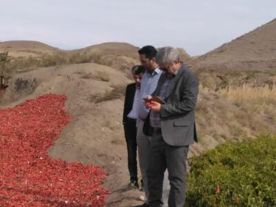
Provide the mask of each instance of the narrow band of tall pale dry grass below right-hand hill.
POLYGON ((230 100, 266 100, 266 99, 276 99, 276 84, 272 86, 268 86, 267 84, 264 86, 250 86, 248 83, 244 83, 242 86, 227 86, 226 88, 219 88, 215 90, 215 88, 204 88, 200 86, 199 90, 207 93, 215 93, 219 95, 219 97, 224 97, 230 100))

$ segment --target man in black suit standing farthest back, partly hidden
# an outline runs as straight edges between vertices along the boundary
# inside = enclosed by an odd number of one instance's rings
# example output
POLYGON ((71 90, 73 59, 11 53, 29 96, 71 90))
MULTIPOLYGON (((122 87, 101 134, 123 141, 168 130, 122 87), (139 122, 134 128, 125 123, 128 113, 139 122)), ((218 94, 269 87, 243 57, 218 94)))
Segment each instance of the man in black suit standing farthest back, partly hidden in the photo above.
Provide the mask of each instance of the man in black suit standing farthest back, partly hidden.
MULTIPOLYGON (((128 171, 130 173, 130 186, 139 188, 137 177, 137 142, 136 142, 136 118, 137 104, 135 103, 135 95, 141 87, 141 78, 143 77, 145 68, 143 66, 134 66, 132 68, 132 76, 135 83, 126 86, 126 97, 124 103, 123 124, 126 137, 126 146, 128 149, 128 171)), ((137 95, 136 95, 137 97, 137 95)), ((137 102, 137 101, 136 101, 137 102)))

